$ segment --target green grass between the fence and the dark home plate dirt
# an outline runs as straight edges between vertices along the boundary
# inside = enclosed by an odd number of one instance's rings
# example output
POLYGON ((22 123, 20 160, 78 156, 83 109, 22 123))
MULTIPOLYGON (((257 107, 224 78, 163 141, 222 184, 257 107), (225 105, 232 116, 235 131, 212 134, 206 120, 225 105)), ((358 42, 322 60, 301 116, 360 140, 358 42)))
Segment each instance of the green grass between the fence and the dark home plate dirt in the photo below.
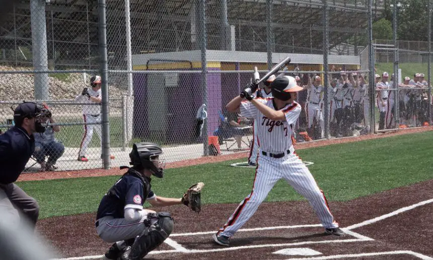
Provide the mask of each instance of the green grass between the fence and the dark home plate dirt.
MULTIPOLYGON (((299 150, 330 201, 348 201, 383 190, 433 178, 430 146, 433 132, 299 150)), ((254 170, 223 163, 167 169, 153 178, 152 189, 163 197, 180 198, 192 183, 203 181, 206 204, 239 203, 251 192, 254 170)), ((95 212, 119 176, 18 182, 41 206, 41 218, 95 212)), ((303 198, 284 181, 277 182, 267 201, 303 198)))

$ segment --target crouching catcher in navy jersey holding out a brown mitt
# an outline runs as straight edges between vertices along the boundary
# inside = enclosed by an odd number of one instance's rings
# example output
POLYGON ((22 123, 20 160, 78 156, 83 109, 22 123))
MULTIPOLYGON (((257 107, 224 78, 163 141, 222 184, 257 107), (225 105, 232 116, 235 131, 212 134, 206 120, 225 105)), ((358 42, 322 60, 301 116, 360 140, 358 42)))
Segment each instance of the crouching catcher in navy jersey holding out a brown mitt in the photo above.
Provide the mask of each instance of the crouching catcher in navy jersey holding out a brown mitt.
POLYGON ((152 206, 184 204, 200 212, 203 183, 191 186, 182 198, 156 196, 151 189, 151 176, 164 176, 162 149, 154 143, 136 143, 129 154, 131 168, 108 190, 99 204, 96 231, 102 240, 114 242, 103 259, 142 259, 173 231, 174 221, 168 212, 143 209, 152 206))

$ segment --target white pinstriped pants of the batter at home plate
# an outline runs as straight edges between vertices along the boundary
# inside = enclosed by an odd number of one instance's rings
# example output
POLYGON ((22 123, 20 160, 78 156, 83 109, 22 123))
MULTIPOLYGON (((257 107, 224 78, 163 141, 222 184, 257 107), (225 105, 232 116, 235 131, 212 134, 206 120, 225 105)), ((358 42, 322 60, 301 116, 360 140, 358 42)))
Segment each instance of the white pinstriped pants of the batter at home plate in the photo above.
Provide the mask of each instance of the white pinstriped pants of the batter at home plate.
POLYGON ((338 227, 338 223, 329 210, 323 191, 319 189, 313 175, 296 154, 286 155, 279 159, 260 155, 253 190, 239 204, 224 227, 218 231, 218 235, 233 236, 253 216, 260 204, 266 199, 269 191, 281 178, 284 178, 288 184, 310 202, 325 228, 338 227))

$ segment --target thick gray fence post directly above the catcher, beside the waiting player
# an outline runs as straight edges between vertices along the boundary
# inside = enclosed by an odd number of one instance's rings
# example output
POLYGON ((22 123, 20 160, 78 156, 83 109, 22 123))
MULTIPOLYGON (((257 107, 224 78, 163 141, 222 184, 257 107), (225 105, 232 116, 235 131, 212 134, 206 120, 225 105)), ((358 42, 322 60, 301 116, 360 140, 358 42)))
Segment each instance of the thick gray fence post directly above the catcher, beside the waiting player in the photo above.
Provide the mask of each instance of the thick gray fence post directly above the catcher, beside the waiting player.
POLYGON ((102 79, 102 154, 104 169, 110 169, 110 124, 108 117, 108 61, 107 61, 107 24, 105 16, 105 0, 98 0, 99 15, 99 55, 102 79))

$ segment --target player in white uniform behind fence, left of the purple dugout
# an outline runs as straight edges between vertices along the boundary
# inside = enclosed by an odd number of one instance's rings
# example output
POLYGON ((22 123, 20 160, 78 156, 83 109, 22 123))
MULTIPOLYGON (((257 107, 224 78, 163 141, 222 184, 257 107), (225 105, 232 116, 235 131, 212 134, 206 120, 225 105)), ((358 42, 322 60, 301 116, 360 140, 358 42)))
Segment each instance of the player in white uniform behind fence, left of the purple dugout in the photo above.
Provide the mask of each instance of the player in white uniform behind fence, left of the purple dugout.
MULTIPOLYGON (((101 159, 102 155, 102 131, 101 131, 101 106, 95 105, 102 102, 101 93, 101 76, 92 76, 90 78, 91 88, 84 88, 83 92, 75 98, 75 102, 89 103, 89 105, 83 105, 83 119, 84 119, 84 135, 80 144, 80 152, 78 153, 78 160, 81 162, 89 161, 86 157, 87 147, 92 141, 93 129, 99 136, 99 144, 101 147, 101 159), (98 123, 98 124, 94 124, 98 123)), ((110 155, 111 159, 114 156, 110 155)))

